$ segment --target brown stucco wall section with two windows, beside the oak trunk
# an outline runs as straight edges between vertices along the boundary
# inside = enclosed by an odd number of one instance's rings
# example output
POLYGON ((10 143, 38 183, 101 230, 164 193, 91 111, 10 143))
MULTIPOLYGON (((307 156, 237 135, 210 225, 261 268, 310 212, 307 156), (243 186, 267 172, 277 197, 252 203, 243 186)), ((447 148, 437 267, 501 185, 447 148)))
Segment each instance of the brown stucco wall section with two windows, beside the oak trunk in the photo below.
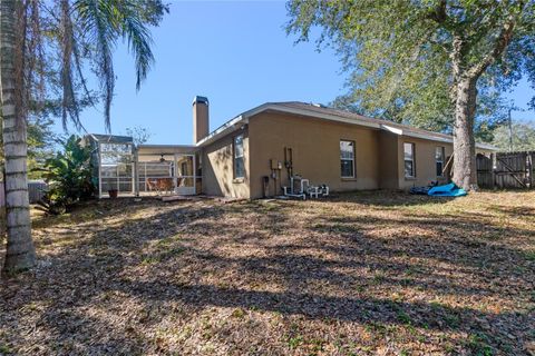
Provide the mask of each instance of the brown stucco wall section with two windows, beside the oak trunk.
POLYGON ((411 187, 427 186, 431 181, 438 180, 440 184, 447 182, 447 177, 437 177, 436 175, 436 160, 435 149, 437 147, 444 147, 445 158, 444 165, 446 165, 448 158, 453 152, 453 145, 448 142, 430 141, 412 137, 398 137, 398 181, 399 189, 410 189, 411 187), (415 144, 415 167, 416 177, 405 177, 405 160, 403 160, 403 142, 415 144))

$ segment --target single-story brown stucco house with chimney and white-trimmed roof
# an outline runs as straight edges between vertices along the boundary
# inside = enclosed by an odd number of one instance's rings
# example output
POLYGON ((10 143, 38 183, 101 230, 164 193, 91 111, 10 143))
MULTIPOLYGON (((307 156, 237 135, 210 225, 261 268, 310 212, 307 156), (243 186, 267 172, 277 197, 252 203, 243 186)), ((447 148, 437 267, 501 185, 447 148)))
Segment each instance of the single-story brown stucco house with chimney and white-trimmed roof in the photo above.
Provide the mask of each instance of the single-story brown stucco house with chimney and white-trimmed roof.
MULTIPOLYGON (((138 182, 135 192, 150 176, 147 167, 158 162, 169 164, 167 175, 178 194, 247 199, 282 194, 290 176, 331 191, 409 189, 448 180, 449 135, 296 101, 266 102, 211 132, 208 111, 207 98, 195 97, 194 145, 137 147, 139 162, 129 169, 138 182), (173 159, 166 160, 169 155, 173 159)), ((477 150, 494 149, 477 144, 477 150)))

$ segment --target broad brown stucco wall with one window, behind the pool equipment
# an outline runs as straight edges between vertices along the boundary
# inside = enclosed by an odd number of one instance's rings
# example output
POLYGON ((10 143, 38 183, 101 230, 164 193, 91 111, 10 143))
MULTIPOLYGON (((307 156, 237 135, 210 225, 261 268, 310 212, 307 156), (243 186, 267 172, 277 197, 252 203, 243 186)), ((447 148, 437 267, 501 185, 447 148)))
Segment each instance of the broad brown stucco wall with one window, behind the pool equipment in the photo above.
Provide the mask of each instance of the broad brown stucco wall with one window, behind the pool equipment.
MULTIPOLYGON (((288 185, 284 147, 293 149, 293 172, 312 185, 327 184, 333 191, 379 188, 379 131, 309 117, 264 112, 250 119, 251 198, 263 195, 262 177, 271 175, 270 160, 282 162, 276 189, 288 185), (356 178, 340 177, 340 140, 356 142, 356 178)), ((276 190, 276 191, 275 191, 276 190)))

